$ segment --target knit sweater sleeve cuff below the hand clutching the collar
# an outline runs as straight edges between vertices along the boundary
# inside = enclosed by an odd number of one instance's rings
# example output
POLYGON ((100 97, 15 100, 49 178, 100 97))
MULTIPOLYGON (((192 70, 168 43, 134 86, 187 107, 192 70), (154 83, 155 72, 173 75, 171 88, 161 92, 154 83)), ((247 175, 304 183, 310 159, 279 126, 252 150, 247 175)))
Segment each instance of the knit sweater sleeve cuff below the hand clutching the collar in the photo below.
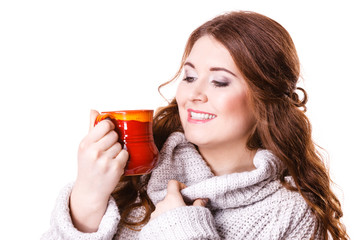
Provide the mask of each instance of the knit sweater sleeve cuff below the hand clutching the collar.
POLYGON ((214 218, 205 207, 178 207, 151 220, 140 232, 139 239, 220 239, 214 218))

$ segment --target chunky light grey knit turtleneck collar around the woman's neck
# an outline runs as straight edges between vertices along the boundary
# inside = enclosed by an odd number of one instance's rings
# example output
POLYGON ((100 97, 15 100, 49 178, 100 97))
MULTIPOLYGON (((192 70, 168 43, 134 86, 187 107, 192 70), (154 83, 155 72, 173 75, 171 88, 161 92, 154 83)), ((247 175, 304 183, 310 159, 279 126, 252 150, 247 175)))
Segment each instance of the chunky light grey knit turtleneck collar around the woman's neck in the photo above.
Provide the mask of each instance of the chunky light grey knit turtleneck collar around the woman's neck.
POLYGON ((186 202, 208 198, 213 209, 240 207, 255 203, 281 187, 277 181, 283 167, 270 151, 258 150, 256 167, 249 172, 214 176, 193 144, 175 132, 160 151, 158 166, 148 184, 148 194, 156 204, 166 195, 167 183, 175 179, 187 187, 181 191, 186 202))

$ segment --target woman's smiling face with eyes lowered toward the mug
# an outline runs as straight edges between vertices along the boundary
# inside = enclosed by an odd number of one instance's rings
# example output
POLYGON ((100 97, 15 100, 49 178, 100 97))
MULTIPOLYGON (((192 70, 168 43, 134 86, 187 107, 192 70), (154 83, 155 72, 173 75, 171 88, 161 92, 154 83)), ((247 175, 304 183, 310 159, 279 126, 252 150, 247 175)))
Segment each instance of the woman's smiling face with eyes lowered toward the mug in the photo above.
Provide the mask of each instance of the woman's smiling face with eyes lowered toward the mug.
POLYGON ((204 36, 194 44, 176 100, 185 136, 199 148, 246 144, 255 124, 248 87, 214 38, 204 36))

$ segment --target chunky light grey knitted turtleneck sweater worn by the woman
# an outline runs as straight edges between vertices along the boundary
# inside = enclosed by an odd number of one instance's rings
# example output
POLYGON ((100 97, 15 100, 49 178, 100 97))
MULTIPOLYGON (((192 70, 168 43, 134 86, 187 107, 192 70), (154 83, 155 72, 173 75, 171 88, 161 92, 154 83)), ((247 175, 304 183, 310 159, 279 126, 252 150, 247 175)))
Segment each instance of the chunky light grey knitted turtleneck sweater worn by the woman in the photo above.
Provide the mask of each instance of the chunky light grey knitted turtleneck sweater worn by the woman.
MULTIPOLYGON (((253 171, 214 176, 185 136, 173 133, 160 151, 148 194, 158 203, 166 195, 168 181, 176 179, 187 186, 181 191, 185 201, 208 198, 206 207, 178 207, 133 231, 119 225, 117 206, 110 199, 98 231, 82 233, 69 214, 70 184, 61 191, 42 239, 310 239, 317 221, 301 195, 279 182, 280 161, 271 152, 259 150, 253 162, 253 171)), ((131 217, 142 214, 143 209, 138 209, 131 217)), ((321 239, 319 233, 315 239, 321 239)))

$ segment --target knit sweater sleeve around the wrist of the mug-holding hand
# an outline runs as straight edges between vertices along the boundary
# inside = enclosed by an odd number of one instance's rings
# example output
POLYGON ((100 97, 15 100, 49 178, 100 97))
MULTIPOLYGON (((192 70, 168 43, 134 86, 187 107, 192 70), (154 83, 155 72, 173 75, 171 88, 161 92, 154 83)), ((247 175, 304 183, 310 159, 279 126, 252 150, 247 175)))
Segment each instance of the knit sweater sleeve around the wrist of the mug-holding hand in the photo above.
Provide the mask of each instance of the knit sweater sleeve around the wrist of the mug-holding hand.
POLYGON ((110 199, 106 212, 100 222, 99 229, 94 233, 78 231, 71 220, 69 198, 73 184, 62 189, 51 215, 50 228, 41 240, 110 240, 116 234, 120 215, 115 200, 110 199))

